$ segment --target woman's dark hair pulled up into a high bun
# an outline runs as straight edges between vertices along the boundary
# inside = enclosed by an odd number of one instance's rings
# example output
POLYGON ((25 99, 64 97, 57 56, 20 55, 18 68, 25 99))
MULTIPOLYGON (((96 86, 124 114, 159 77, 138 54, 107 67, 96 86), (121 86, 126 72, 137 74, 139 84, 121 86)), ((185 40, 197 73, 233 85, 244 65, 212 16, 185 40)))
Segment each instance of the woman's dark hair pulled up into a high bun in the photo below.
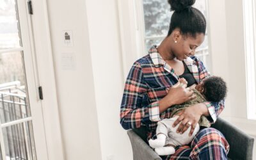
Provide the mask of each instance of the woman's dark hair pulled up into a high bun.
POLYGON ((206 29, 206 20, 204 15, 192 5, 195 0, 168 0, 173 12, 168 36, 176 28, 180 29, 182 35, 190 35, 194 38, 196 33, 204 33, 206 29))

